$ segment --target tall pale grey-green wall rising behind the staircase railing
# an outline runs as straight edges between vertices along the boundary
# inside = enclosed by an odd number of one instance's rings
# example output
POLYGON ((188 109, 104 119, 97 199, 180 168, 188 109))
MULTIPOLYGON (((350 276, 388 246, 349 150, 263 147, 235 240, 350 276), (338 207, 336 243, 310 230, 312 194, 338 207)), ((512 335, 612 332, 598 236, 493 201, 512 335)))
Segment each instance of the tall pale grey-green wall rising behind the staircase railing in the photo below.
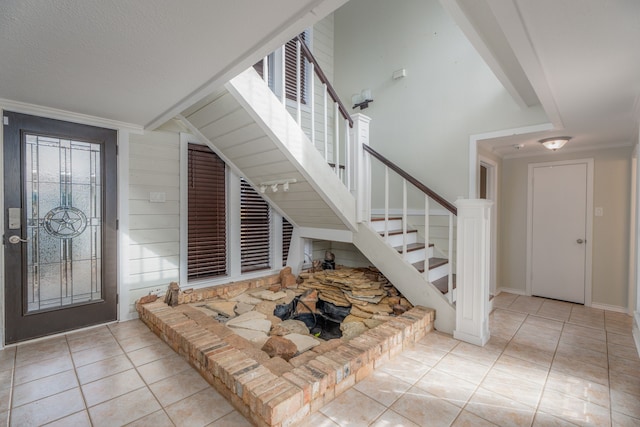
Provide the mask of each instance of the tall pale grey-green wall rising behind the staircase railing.
POLYGON ((437 0, 351 0, 334 25, 338 93, 372 90, 371 146, 449 201, 468 195, 470 135, 547 121, 518 107, 437 0))

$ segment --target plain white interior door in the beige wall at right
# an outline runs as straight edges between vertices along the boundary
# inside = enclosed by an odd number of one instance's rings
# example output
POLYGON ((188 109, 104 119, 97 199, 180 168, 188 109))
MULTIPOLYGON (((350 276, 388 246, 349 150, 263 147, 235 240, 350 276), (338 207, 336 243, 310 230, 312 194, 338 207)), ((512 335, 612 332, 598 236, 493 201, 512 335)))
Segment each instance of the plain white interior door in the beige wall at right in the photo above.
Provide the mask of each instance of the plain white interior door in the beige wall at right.
POLYGON ((531 293, 585 303, 589 163, 530 168, 531 293))

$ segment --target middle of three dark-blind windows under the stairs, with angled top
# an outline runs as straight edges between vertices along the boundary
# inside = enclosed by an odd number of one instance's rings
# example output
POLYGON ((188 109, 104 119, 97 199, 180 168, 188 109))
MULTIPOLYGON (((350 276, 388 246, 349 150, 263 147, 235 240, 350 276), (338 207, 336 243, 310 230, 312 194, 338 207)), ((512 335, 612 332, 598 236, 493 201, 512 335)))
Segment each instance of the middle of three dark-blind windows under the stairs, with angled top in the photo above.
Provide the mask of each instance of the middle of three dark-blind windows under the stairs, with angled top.
POLYGON ((269 204, 244 179, 240 185, 241 271, 265 270, 271 268, 269 204))

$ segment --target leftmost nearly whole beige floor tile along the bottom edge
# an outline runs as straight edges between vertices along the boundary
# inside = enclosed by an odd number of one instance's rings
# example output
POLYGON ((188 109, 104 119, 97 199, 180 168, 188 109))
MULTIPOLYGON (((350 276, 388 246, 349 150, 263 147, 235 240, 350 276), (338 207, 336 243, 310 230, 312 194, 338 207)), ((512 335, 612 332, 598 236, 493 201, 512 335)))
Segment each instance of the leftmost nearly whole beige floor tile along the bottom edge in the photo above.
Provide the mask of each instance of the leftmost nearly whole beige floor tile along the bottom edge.
POLYGON ((54 394, 11 410, 11 426, 37 426, 84 410, 79 388, 54 394))

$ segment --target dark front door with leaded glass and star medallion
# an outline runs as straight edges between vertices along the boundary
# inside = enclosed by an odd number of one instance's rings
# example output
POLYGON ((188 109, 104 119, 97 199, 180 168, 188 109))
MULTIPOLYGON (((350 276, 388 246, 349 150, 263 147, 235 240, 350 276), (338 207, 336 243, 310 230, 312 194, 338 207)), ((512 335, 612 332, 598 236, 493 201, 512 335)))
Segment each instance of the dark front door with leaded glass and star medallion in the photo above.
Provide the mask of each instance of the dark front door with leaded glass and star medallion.
POLYGON ((4 112, 7 344, 116 319, 116 141, 4 112))

